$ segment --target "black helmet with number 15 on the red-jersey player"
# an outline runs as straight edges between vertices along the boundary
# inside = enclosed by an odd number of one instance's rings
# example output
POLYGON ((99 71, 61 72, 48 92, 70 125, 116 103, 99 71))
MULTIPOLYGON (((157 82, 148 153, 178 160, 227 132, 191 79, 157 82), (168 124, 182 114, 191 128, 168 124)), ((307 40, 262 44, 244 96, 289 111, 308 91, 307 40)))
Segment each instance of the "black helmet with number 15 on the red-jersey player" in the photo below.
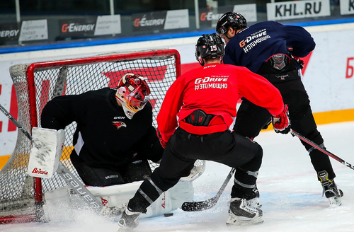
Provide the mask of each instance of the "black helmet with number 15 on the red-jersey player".
POLYGON ((216 33, 203 34, 195 45, 195 58, 203 66, 202 59, 224 57, 224 42, 216 33))

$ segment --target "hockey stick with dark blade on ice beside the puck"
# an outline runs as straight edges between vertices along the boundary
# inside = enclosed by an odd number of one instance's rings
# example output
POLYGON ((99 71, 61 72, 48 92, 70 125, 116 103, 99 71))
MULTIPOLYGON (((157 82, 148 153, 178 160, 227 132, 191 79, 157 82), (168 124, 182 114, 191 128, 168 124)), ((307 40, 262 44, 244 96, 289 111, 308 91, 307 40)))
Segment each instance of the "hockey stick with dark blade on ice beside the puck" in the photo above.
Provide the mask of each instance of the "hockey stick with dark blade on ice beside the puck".
POLYGON ((203 211, 214 207, 215 204, 217 204, 217 201, 219 200, 220 196, 222 195, 222 192, 224 192, 224 189, 229 183, 229 180, 232 178, 232 175, 234 174, 235 170, 236 168, 232 168, 232 170, 230 170, 229 175, 227 175, 227 178, 224 180, 224 183, 222 183, 222 187, 220 187, 215 197, 212 197, 202 202, 184 202, 182 204, 181 209, 183 211, 203 211))

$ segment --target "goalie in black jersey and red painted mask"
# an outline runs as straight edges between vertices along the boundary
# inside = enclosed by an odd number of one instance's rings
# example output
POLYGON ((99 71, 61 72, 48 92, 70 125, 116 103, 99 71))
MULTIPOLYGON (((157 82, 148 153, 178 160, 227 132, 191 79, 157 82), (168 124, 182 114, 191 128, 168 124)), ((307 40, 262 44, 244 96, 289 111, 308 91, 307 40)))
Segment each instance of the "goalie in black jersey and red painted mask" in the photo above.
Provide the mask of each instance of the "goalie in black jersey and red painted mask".
POLYGON ((50 100, 42 110, 44 128, 77 123, 71 161, 85 185, 108 186, 148 178, 148 159, 164 149, 152 125, 150 88, 142 76, 125 74, 117 88, 102 88, 50 100))

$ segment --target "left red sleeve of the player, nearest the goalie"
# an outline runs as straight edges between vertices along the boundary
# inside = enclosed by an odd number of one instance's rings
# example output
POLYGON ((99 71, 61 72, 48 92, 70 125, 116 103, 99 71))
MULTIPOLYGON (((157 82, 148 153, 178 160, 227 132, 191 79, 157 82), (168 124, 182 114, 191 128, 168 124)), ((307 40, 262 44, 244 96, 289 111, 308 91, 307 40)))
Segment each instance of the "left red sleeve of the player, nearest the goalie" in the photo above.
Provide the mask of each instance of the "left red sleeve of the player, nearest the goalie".
POLYGON ((177 113, 183 103, 183 80, 183 76, 180 76, 170 86, 156 118, 161 139, 166 142, 169 141, 171 135, 176 131, 176 127, 178 127, 177 113))

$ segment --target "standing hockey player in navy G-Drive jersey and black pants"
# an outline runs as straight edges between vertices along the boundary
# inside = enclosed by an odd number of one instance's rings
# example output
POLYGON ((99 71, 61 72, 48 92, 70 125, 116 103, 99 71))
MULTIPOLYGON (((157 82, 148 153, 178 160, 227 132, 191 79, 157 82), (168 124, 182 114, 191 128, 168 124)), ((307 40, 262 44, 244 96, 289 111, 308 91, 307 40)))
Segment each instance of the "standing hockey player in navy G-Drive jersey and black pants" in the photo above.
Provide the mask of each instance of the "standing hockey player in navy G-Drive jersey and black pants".
MULTIPOLYGON (((289 107, 291 128, 324 147, 324 139, 317 130, 309 105, 309 96, 302 84, 302 61, 299 57, 306 57, 315 47, 314 39, 307 30, 274 21, 247 27, 244 16, 228 12, 219 18, 216 31, 227 44, 224 64, 245 66, 273 83, 289 107)), ((270 113, 267 109, 244 98, 237 113, 234 131, 253 139, 269 122, 270 113)), ((333 180, 336 175, 329 156, 301 142, 309 153, 331 207, 341 205, 343 192, 333 180)))

